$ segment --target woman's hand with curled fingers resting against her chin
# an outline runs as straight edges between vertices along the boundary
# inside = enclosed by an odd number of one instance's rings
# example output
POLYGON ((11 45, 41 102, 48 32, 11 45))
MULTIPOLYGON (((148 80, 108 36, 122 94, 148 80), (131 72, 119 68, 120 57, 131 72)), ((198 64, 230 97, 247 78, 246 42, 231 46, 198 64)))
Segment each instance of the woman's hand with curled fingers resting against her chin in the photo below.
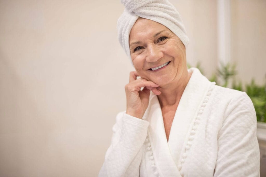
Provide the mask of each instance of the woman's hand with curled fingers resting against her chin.
POLYGON ((127 111, 126 114, 142 119, 148 104, 149 95, 152 92, 160 95, 161 92, 157 89, 158 84, 148 81, 143 78, 137 79, 136 71, 131 71, 129 76, 129 83, 125 86, 127 97, 127 111), (140 90, 142 87, 143 90, 140 90))

